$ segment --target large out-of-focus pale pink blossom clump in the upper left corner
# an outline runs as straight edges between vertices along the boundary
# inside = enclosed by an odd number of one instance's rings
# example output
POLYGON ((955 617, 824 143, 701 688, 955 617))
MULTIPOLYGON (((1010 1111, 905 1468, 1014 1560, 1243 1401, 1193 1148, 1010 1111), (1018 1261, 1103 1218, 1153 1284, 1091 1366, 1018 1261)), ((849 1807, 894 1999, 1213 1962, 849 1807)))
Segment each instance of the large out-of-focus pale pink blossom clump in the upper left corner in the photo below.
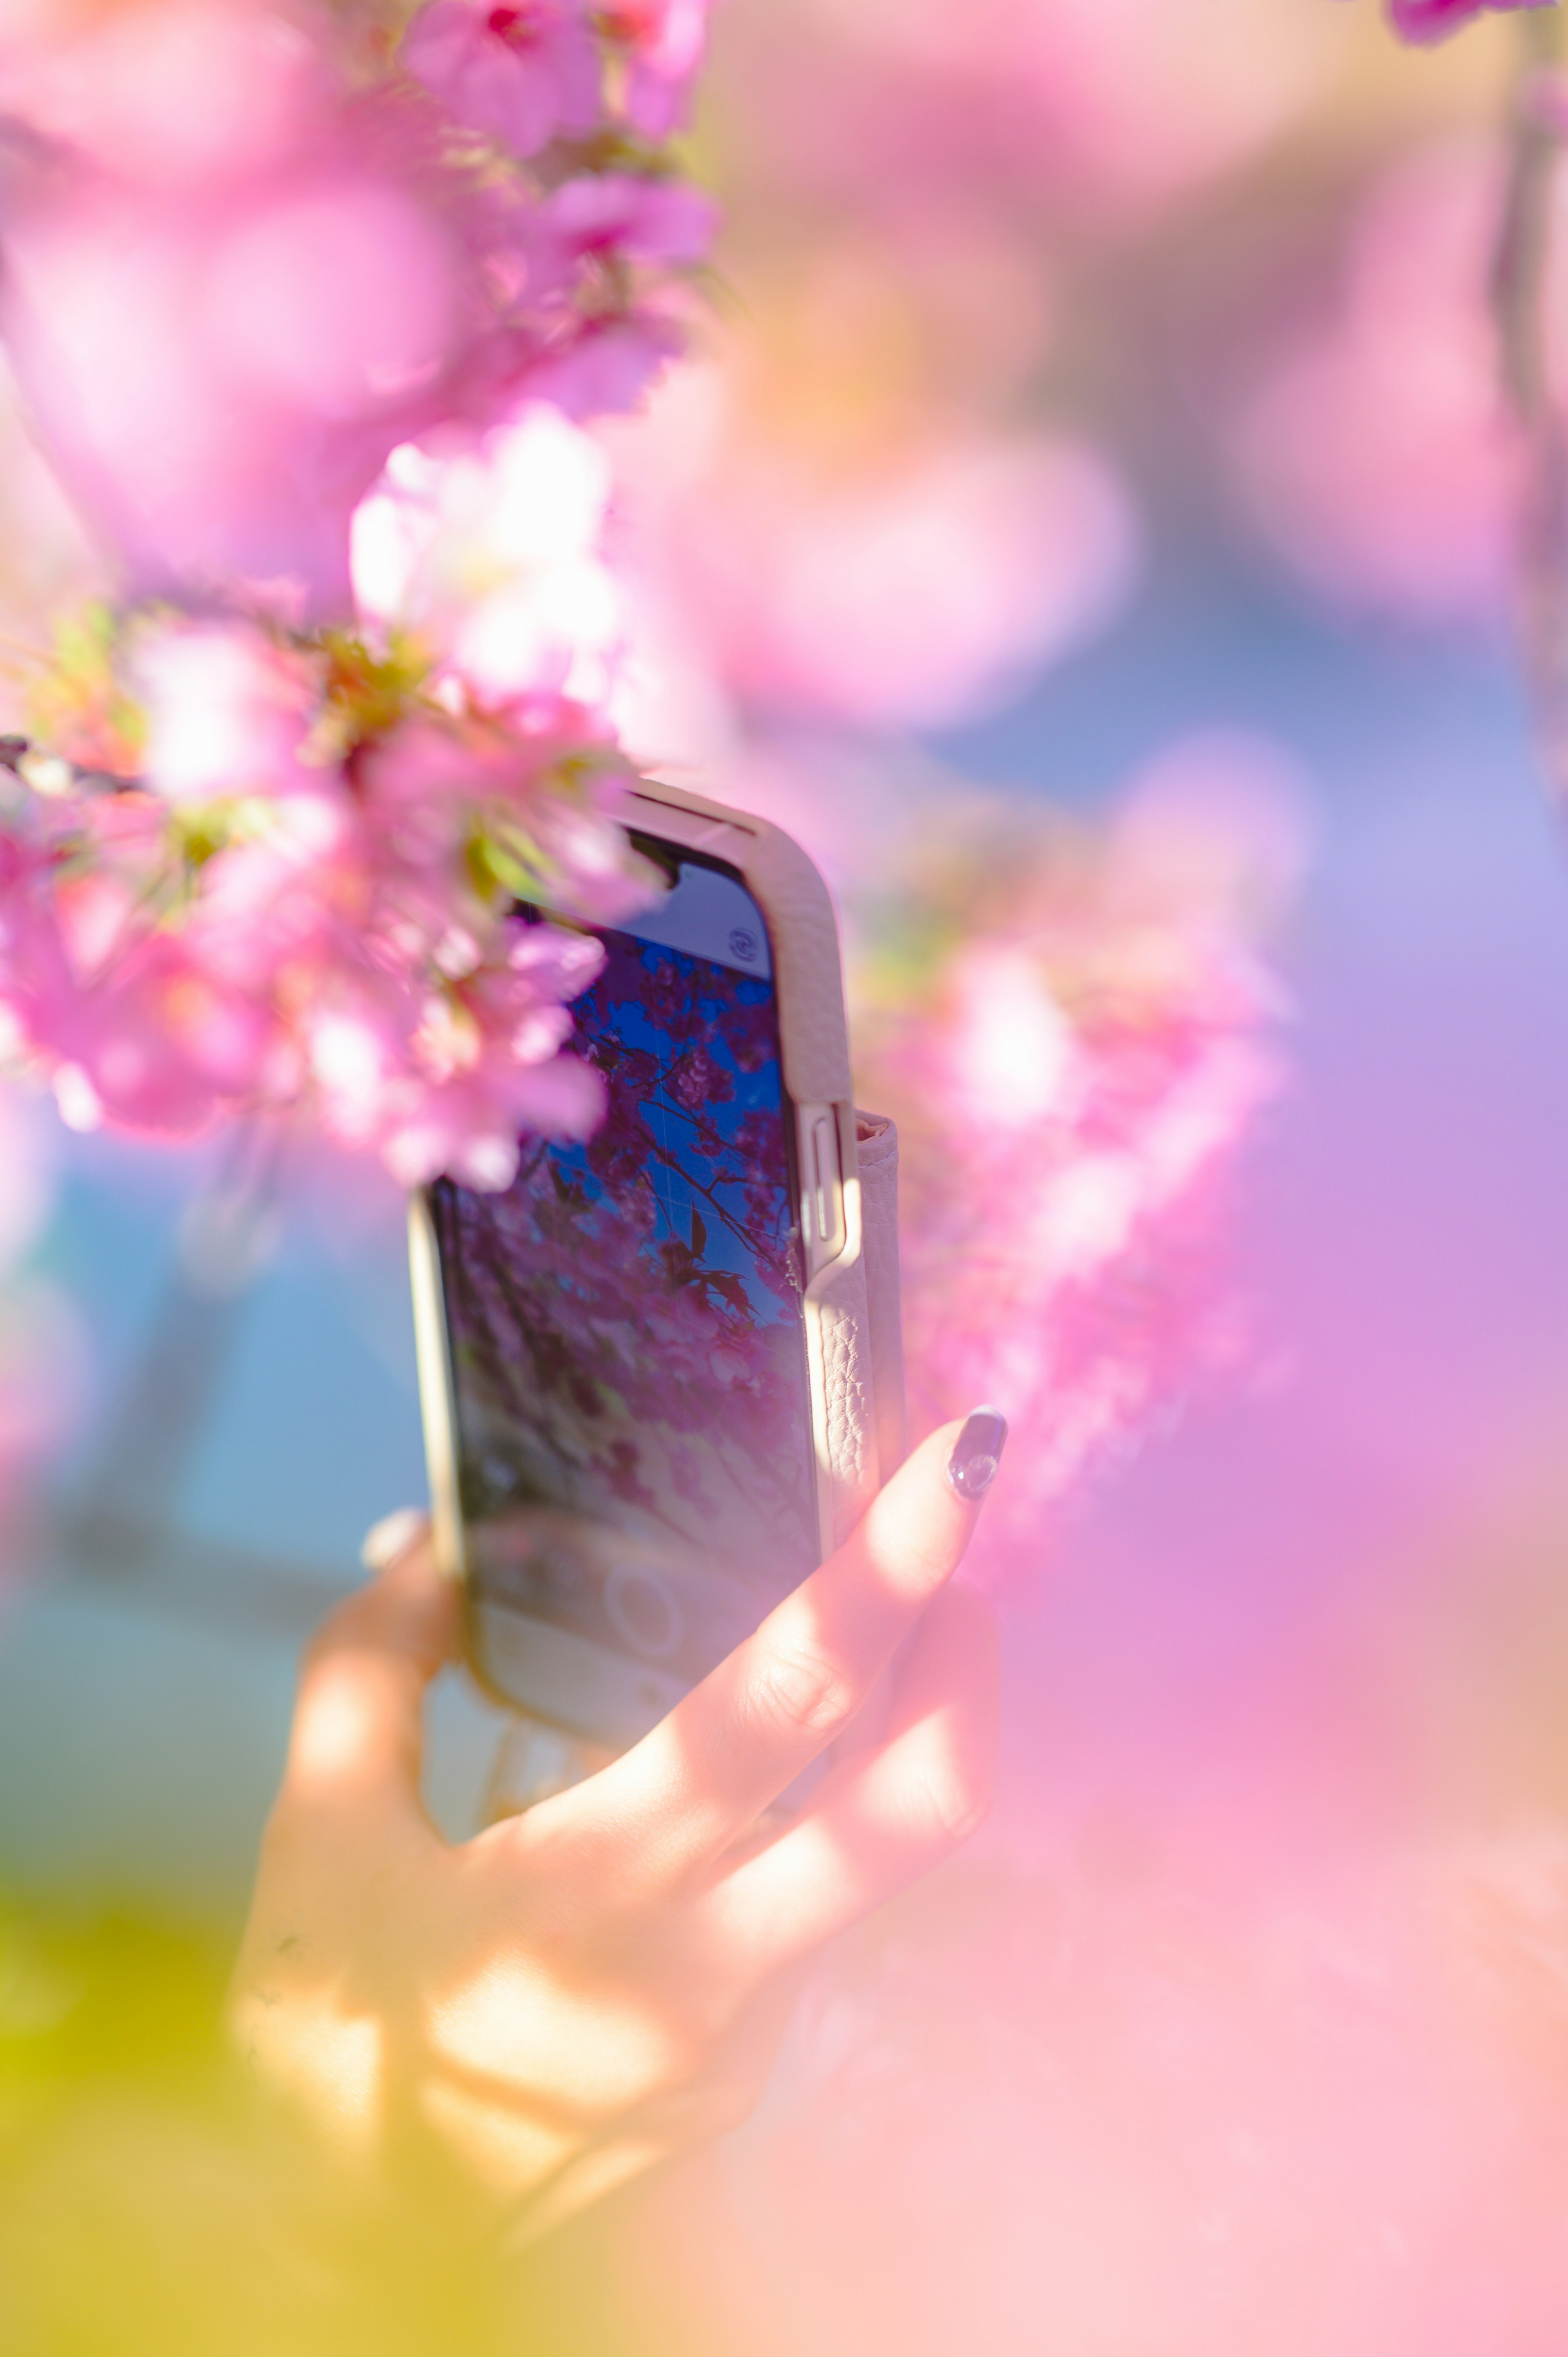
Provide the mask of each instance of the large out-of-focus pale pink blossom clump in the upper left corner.
MULTIPOLYGON (((149 0, 158 26, 182 5, 149 0)), ((292 57, 304 24, 257 5, 245 38, 292 57)), ((323 35, 266 137, 229 141, 222 170, 205 148, 158 170, 156 141, 116 130, 130 99, 104 127, 99 49, 61 57, 59 87, 12 78, 0 332, 132 594, 347 620, 351 516, 394 448, 483 436, 528 398, 634 403, 681 344, 655 280, 693 266, 712 207, 660 170, 554 193, 486 177, 422 90, 351 78, 323 35)), ((0 97, 2 75, 0 45, 0 97)))

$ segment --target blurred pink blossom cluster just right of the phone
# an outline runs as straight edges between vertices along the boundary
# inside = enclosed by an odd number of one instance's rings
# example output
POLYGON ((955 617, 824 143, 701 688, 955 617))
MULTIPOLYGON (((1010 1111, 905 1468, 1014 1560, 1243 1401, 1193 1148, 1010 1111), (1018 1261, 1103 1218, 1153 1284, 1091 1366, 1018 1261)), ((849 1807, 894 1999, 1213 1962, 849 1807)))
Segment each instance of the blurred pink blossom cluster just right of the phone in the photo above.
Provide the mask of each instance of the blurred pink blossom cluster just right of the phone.
POLYGON ((903 1134, 915 1419, 1007 1402, 1026 1464, 1000 1525, 1023 1530, 1236 1348, 1217 1235, 1276 1087, 1254 936, 1294 886, 1302 820, 1273 747, 1214 738, 1134 780, 1096 837, 946 823, 967 849, 931 858, 927 827, 891 983, 868 912, 858 1087, 903 1134))

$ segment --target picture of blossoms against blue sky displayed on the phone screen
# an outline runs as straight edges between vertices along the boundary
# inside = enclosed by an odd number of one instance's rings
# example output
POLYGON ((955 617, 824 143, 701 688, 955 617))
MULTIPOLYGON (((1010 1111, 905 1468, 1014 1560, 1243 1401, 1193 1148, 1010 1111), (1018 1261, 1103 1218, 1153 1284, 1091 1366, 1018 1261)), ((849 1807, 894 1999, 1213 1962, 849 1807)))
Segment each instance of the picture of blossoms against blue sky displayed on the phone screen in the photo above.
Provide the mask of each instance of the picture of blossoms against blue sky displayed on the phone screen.
POLYGON ((502 1195, 436 1188, 465 1520, 481 1586, 585 1633, 549 1511, 670 1546, 698 1676, 816 1560, 778 1016, 771 981, 604 943, 573 1042, 604 1124, 533 1141, 502 1195))

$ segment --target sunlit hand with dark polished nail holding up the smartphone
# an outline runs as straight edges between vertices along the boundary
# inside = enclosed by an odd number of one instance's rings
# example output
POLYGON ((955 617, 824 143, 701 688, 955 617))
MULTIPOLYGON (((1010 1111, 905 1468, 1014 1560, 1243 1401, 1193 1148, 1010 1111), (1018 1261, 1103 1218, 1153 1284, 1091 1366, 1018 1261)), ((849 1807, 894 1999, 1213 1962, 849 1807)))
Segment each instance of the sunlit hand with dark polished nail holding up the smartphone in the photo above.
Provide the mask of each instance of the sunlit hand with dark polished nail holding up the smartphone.
POLYGON ((307 1657, 231 1996, 255 2077, 373 2168, 436 2157, 531 2230, 743 2119, 792 1968, 986 1813, 995 1633, 948 1582, 997 1447, 976 1419, 931 1433, 644 1742, 457 1846, 420 1803, 457 1636, 420 1532, 307 1657), (809 1805, 769 1817, 828 1747, 809 1805))

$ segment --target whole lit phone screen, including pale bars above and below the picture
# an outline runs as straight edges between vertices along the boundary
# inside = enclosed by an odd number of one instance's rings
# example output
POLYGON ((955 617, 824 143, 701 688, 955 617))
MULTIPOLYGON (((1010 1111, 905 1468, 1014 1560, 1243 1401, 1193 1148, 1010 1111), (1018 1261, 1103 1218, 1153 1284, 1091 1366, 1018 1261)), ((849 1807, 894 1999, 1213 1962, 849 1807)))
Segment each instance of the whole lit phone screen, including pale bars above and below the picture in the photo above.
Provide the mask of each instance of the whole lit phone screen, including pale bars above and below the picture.
POLYGON ((818 1560, 766 924, 731 870, 674 860, 573 1006, 601 1127, 526 1141, 505 1195, 431 1190, 479 1664, 601 1742, 818 1560))

